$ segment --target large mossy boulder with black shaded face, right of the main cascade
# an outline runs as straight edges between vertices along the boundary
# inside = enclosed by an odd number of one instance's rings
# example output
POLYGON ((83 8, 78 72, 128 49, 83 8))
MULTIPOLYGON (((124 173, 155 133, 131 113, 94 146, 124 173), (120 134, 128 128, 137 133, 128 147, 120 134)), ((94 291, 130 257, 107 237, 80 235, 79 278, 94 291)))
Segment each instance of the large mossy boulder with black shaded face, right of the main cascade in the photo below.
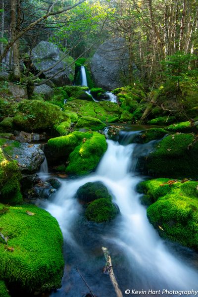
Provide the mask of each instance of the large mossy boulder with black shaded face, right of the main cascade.
POLYGON ((145 159, 149 175, 171 178, 198 178, 198 141, 193 134, 163 138, 145 159))

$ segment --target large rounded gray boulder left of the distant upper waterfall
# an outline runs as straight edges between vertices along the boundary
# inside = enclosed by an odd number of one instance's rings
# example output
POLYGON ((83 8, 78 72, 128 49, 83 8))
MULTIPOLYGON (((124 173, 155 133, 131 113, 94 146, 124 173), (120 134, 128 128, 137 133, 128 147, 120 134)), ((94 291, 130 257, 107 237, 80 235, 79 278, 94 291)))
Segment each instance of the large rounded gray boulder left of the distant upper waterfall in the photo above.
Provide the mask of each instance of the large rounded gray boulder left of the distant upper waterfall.
POLYGON ((51 70, 44 72, 46 78, 50 78, 60 71, 60 73, 51 78, 51 81, 58 87, 70 85, 75 75, 75 65, 69 66, 74 61, 71 56, 67 56, 55 65, 62 55, 63 52, 56 45, 47 41, 41 41, 32 49, 32 62, 36 70, 44 71, 54 65, 51 70))

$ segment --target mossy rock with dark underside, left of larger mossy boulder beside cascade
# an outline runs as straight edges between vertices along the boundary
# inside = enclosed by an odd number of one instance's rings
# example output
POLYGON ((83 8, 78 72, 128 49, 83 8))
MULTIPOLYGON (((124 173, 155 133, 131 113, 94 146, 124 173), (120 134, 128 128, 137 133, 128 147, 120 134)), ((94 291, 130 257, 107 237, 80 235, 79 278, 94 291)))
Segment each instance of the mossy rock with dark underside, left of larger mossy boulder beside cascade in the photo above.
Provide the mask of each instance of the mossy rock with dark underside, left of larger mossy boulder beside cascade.
POLYGON ((89 139, 91 137, 92 133, 74 131, 67 136, 49 139, 48 149, 56 156, 68 156, 74 150, 74 148, 76 148, 82 142, 84 138, 89 139))

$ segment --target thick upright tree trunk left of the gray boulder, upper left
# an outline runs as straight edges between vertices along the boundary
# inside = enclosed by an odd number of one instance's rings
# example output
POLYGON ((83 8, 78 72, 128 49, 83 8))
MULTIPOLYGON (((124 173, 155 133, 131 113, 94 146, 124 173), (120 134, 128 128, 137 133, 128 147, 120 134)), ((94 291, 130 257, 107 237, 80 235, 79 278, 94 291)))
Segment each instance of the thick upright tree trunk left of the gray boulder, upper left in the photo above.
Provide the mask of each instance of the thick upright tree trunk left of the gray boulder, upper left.
MULTIPOLYGON (((11 40, 16 38, 16 0, 10 1, 10 11, 11 11, 11 40)), ((19 60, 19 50, 18 50, 18 43, 15 41, 12 45, 13 51, 13 81, 20 81, 21 78, 21 71, 20 71, 20 60, 19 60)))

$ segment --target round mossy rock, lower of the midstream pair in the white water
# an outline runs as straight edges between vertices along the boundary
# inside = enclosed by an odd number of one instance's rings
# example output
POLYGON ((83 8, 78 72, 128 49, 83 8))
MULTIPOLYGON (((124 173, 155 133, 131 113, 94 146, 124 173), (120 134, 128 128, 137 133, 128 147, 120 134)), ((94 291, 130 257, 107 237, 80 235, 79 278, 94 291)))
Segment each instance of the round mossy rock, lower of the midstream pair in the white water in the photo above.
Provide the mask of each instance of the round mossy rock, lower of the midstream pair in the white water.
POLYGON ((89 221, 102 223, 114 219, 118 212, 118 208, 109 199, 100 198, 89 204, 85 215, 89 221))

